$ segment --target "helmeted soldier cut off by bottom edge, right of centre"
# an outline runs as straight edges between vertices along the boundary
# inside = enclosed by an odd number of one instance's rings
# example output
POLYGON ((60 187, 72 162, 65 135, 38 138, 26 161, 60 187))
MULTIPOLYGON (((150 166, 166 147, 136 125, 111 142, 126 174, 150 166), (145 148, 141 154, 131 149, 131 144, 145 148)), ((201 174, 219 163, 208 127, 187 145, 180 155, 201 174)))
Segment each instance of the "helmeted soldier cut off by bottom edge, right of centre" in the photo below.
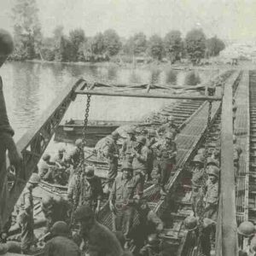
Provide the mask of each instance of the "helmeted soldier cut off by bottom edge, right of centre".
POLYGON ((163 256, 162 244, 156 234, 148 235, 147 244, 140 250, 141 256, 163 256))

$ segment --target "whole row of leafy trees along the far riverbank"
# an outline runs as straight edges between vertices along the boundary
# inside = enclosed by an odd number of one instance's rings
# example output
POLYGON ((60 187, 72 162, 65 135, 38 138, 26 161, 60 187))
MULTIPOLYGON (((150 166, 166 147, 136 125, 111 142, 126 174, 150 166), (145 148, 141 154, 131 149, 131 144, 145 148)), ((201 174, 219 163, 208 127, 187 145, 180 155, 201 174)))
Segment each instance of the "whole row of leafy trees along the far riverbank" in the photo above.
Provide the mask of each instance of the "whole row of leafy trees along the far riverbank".
POLYGON ((156 34, 147 38, 143 32, 138 32, 125 39, 113 29, 86 37, 81 28, 66 35, 63 26, 56 26, 53 36, 44 38, 36 0, 16 0, 13 19, 15 52, 11 58, 19 61, 108 61, 116 55, 126 55, 150 56, 157 61, 165 57, 172 63, 189 58, 197 64, 202 58, 216 56, 225 48, 221 39, 207 38, 201 29, 191 30, 184 38, 181 32, 172 30, 164 38, 156 34))

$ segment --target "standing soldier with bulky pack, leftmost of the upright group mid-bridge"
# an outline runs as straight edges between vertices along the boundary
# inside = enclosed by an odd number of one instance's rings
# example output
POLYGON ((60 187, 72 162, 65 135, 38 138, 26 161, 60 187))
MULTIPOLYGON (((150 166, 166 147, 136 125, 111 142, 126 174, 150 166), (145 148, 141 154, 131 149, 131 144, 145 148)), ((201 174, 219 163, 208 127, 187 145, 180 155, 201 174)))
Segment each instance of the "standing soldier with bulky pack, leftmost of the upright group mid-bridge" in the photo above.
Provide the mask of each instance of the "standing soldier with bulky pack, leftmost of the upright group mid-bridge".
POLYGON ((107 141, 107 145, 103 148, 103 154, 108 158, 108 189, 112 188, 113 181, 118 174, 119 163, 119 148, 117 141, 119 139, 119 133, 113 131, 110 139, 107 141))

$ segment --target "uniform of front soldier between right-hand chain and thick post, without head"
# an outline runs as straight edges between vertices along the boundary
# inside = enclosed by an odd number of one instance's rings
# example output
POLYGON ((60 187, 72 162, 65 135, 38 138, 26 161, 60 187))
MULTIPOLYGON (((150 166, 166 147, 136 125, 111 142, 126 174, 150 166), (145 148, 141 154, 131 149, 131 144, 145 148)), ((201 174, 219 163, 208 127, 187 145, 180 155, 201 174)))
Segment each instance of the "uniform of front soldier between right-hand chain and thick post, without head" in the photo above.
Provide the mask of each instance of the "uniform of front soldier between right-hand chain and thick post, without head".
POLYGON ((217 220, 217 208, 218 208, 218 182, 207 184, 207 193, 204 197, 206 203, 205 218, 212 218, 217 220))

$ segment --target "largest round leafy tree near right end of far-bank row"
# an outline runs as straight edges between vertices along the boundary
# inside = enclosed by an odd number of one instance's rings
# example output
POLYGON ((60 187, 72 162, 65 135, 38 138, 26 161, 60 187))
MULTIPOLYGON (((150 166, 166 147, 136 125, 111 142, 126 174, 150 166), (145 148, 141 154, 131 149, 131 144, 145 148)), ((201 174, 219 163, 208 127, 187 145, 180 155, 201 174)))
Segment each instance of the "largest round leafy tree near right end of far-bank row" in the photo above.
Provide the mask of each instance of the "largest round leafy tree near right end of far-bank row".
POLYGON ((187 33, 185 43, 187 54, 193 64, 198 64, 206 51, 206 36, 201 29, 193 29, 187 33))

